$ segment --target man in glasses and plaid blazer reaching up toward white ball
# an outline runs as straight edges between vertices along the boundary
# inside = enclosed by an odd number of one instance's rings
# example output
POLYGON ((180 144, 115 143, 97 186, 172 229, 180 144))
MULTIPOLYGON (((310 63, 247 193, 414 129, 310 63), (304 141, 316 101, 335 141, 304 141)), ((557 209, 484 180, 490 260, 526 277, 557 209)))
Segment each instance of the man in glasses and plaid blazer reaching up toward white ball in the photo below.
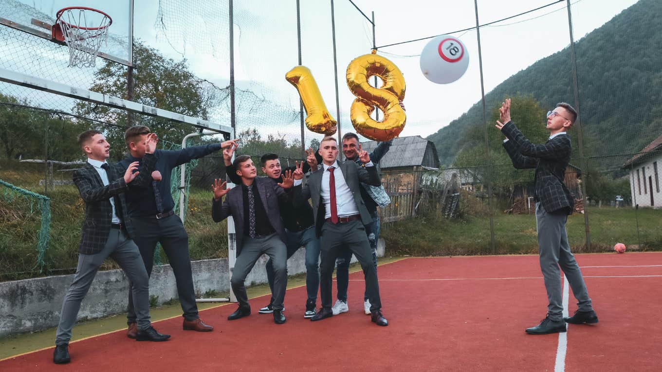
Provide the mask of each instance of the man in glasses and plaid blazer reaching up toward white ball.
POLYGON ((547 289, 547 316, 538 326, 527 328, 528 334, 565 332, 565 323, 594 324, 598 322, 584 277, 575 256, 570 252, 565 222, 573 212, 575 200, 563 184, 565 167, 570 162, 572 146, 567 134, 577 119, 577 111, 567 103, 559 103, 547 113, 549 140, 545 144, 532 144, 510 120, 510 99, 499 109, 500 120, 496 128, 506 136, 503 146, 517 169, 536 168, 534 199, 540 269, 547 289), (504 124, 505 123, 505 124, 504 124), (569 318, 563 318, 561 273, 573 289, 579 309, 569 318))

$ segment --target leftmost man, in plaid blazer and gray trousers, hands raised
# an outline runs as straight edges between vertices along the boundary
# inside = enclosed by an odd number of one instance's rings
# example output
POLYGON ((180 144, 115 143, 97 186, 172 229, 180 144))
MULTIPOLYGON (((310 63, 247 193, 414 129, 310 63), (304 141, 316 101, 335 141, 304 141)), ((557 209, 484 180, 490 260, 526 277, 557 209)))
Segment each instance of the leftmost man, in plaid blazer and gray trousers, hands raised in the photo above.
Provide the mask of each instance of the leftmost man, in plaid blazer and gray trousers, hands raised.
POLYGON ((87 294, 97 270, 103 260, 113 257, 122 267, 129 280, 134 283, 133 297, 138 313, 138 341, 165 341, 170 336, 160 334, 150 323, 149 278, 138 246, 131 240, 132 228, 126 216, 124 191, 127 185, 145 183, 154 169, 156 159, 152 154, 156 149, 156 136, 150 136, 146 148, 149 153, 142 169, 132 163, 123 176, 115 165, 106 162, 110 156, 110 144, 101 132, 87 130, 78 136, 78 144, 87 155, 87 163, 73 173, 73 182, 85 201, 85 222, 78 246, 78 267, 73 283, 69 287, 56 336, 55 363, 68 363, 71 328, 76 321, 81 301, 87 294))

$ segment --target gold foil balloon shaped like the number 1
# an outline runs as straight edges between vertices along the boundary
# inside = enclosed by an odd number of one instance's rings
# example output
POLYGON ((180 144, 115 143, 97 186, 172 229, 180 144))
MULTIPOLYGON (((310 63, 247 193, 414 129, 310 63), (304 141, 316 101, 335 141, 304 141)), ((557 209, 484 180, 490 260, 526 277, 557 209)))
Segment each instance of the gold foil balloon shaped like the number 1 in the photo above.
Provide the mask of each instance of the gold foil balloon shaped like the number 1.
POLYGON ((306 126, 315 133, 334 134, 336 120, 324 105, 322 93, 307 67, 297 66, 285 74, 285 79, 299 91, 303 107, 306 109, 306 126))

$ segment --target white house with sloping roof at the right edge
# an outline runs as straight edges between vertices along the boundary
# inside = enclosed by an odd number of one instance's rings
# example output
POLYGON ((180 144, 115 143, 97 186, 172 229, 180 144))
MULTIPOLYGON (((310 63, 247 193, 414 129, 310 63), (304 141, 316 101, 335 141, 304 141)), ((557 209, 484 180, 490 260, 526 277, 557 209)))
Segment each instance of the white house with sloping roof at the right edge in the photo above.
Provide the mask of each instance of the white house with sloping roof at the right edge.
POLYGON ((662 135, 623 165, 630 171, 632 205, 662 208, 662 135))

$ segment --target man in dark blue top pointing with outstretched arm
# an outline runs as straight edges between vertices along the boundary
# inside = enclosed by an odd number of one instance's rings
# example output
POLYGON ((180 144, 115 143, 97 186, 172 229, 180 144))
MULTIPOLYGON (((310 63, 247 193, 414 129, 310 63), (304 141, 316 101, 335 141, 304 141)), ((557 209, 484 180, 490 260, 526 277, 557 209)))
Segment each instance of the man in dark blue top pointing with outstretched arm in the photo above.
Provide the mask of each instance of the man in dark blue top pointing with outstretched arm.
MULTIPOLYGON (((122 160, 121 165, 127 167, 132 162, 142 160, 145 154, 145 138, 149 133, 150 128, 142 125, 132 126, 126 130, 124 138, 130 156, 122 160)), ((134 242, 140 249, 140 255, 149 275, 154 265, 156 244, 161 243, 166 252, 175 274, 177 295, 183 310, 184 330, 208 332, 214 328, 205 324, 198 316, 189 258, 189 236, 184 230, 181 219, 173 212, 175 203, 170 193, 170 176, 174 167, 202 158, 231 144, 236 144, 235 140, 177 151, 156 150, 154 152, 156 171, 151 175, 151 182, 145 187, 129 187, 126 192, 128 212, 135 230, 134 242)), ((136 314, 131 297, 129 297, 127 318, 126 336, 135 338, 136 314)))

